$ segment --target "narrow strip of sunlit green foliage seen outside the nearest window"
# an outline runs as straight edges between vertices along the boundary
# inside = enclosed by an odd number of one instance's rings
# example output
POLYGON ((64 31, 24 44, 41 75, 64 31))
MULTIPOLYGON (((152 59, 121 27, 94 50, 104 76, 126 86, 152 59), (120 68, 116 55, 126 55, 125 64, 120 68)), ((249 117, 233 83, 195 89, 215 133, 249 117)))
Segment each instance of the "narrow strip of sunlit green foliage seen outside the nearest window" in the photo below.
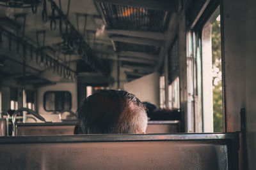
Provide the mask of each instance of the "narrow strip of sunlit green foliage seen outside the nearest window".
POLYGON ((214 132, 223 132, 220 16, 212 24, 212 85, 214 132))

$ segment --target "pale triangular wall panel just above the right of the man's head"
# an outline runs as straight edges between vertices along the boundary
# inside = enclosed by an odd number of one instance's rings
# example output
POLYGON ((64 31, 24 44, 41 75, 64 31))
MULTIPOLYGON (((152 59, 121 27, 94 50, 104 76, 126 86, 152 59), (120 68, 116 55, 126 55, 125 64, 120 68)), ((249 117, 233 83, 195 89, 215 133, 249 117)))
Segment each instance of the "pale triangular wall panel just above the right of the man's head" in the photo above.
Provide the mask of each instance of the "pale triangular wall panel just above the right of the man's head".
POLYGON ((159 73, 148 74, 125 83, 124 89, 134 94, 140 101, 147 101, 159 107, 159 73))

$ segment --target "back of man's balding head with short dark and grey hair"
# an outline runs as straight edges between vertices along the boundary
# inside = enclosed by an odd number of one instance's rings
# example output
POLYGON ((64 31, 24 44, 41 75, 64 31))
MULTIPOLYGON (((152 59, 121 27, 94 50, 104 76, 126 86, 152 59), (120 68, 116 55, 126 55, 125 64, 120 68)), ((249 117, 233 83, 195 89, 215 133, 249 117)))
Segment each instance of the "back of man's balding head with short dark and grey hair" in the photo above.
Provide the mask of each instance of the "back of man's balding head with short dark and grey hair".
POLYGON ((89 96, 78 110, 75 134, 144 133, 145 106, 124 90, 100 90, 89 96))

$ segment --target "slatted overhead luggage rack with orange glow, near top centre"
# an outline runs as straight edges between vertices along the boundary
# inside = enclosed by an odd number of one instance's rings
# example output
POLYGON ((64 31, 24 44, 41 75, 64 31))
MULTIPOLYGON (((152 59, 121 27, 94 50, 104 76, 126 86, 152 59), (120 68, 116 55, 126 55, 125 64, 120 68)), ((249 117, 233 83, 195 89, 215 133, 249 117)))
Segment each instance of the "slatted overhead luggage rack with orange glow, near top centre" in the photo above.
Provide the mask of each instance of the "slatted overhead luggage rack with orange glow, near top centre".
POLYGON ((107 29, 164 32, 170 11, 111 3, 96 3, 106 18, 107 29))

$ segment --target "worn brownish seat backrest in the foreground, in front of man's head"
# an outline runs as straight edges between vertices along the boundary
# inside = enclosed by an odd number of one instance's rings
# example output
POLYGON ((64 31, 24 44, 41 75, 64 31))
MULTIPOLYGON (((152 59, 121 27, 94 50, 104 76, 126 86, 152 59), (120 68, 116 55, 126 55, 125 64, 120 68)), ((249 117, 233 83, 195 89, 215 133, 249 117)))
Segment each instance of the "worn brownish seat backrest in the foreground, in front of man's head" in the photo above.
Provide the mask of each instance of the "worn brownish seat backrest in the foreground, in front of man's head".
POLYGON ((0 138, 1 169, 237 169, 238 136, 94 134, 0 138))

